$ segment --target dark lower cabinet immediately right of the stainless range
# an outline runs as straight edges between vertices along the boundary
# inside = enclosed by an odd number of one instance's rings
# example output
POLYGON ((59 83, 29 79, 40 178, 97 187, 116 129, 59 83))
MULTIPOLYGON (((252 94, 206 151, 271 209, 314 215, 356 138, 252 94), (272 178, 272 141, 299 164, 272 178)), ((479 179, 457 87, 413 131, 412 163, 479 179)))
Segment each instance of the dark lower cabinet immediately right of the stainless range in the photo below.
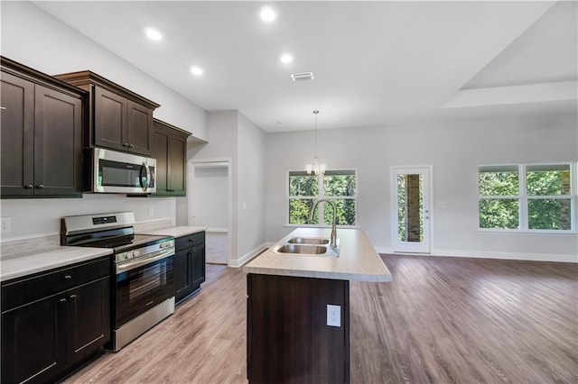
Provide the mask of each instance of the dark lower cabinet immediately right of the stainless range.
POLYGON ((200 289, 205 281, 205 233, 192 233, 175 239, 174 299, 180 303, 200 289))

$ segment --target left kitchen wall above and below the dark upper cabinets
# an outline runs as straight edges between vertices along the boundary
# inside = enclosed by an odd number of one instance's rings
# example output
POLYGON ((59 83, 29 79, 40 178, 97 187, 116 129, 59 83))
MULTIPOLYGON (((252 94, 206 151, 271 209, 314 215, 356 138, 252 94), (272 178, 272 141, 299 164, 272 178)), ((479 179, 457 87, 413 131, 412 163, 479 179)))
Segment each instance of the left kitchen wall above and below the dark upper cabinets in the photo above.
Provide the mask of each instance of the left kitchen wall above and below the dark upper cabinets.
MULTIPOLYGON (((125 60, 72 30, 28 2, 1 2, 0 53, 48 74, 90 69, 162 106, 154 116, 203 138, 207 113, 125 60)), ((175 219, 175 198, 127 198, 85 195, 82 199, 2 200, 3 216, 12 217, 3 241, 59 233, 63 215, 135 211, 137 221, 175 219), (149 208, 154 215, 149 215, 149 208)))

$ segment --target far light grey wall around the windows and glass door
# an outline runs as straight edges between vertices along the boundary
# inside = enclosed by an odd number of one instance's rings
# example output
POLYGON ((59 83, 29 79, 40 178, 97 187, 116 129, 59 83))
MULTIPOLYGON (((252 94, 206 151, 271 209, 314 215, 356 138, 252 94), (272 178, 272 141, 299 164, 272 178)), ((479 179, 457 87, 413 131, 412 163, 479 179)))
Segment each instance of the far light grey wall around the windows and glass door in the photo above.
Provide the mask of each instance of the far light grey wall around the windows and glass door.
MULTIPOLYGON (((284 226, 287 170, 312 162, 312 140, 312 132, 267 135, 269 242, 292 230, 284 226)), ((328 169, 358 169, 358 224, 381 251, 391 250, 390 167, 431 164, 433 254, 578 261, 575 234, 481 233, 477 193, 479 164, 578 160, 575 114, 323 130, 318 152, 328 169)))

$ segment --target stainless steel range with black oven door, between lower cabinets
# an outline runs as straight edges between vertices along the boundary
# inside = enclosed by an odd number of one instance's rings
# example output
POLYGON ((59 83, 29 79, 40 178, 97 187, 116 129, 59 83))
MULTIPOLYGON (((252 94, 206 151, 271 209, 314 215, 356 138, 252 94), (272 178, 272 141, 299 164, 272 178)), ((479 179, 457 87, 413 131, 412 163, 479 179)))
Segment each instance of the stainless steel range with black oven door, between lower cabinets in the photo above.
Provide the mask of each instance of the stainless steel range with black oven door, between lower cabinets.
POLYGON ((174 312, 174 238, 135 234, 135 215, 120 212, 61 219, 61 244, 111 248, 112 340, 118 351, 174 312))

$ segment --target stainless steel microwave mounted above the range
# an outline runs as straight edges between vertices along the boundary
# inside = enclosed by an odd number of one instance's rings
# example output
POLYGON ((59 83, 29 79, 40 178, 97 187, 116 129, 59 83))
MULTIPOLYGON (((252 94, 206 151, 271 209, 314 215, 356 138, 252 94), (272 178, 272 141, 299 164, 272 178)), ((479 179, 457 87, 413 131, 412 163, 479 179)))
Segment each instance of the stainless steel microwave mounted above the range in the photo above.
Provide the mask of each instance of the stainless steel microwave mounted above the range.
POLYGON ((155 193, 156 160, 132 153, 89 150, 90 187, 96 193, 155 193))

